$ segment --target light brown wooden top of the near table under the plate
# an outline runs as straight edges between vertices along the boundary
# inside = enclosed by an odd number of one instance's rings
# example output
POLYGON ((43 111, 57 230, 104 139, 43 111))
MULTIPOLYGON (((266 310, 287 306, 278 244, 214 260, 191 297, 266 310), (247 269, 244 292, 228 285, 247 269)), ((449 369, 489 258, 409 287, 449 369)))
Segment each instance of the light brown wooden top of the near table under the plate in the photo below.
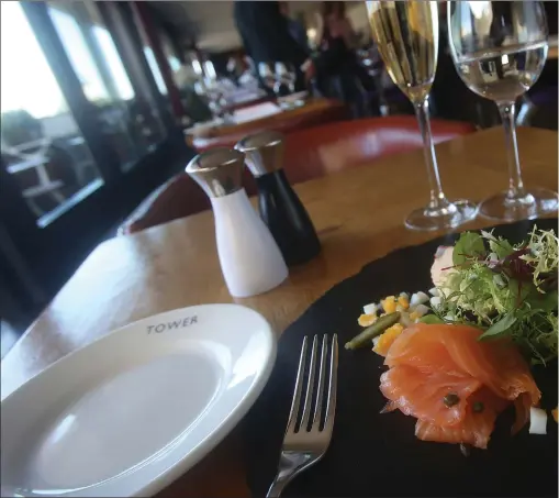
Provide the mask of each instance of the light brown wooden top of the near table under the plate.
MULTIPOLYGON (((557 189, 557 132, 519 129, 518 146, 525 184, 557 189)), ((439 144, 436 150, 450 199, 481 200, 507 184, 500 128, 439 144)), ((262 313, 279 334, 364 264, 438 235, 403 226, 404 217, 427 201, 422 151, 300 184, 295 190, 314 221, 323 251, 313 262, 292 269, 280 287, 253 298, 231 298, 220 270, 211 212, 109 240, 93 251, 2 361, 2 397, 100 335, 176 308, 242 303, 262 313)), ((467 228, 490 224, 480 219, 467 228)), ((234 431, 161 496, 249 496, 241 445, 234 431)))

